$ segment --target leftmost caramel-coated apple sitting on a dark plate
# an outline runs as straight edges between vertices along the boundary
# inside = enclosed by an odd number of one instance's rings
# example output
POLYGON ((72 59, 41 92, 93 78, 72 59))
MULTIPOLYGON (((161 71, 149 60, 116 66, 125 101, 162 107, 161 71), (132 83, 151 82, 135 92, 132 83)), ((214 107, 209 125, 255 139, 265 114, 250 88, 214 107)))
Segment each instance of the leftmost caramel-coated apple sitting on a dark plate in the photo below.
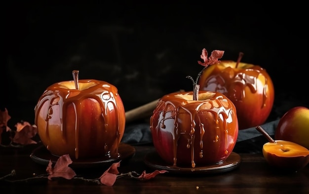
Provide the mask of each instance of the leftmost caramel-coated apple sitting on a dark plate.
POLYGON ((72 158, 119 157, 125 111, 117 88, 105 81, 82 79, 50 85, 35 107, 35 124, 53 155, 72 158))

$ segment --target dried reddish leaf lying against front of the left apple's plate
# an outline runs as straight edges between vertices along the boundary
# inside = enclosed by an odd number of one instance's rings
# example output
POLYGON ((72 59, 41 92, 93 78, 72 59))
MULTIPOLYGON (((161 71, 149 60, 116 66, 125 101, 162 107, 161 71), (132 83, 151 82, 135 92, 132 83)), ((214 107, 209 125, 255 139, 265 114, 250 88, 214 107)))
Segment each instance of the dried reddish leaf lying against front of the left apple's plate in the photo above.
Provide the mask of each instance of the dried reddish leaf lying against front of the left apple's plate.
POLYGON ((72 159, 69 155, 62 155, 58 158, 54 167, 52 167, 52 162, 49 160, 46 172, 48 172, 48 180, 52 180, 53 177, 62 177, 65 179, 72 179, 76 176, 75 171, 69 167, 72 164, 72 159))

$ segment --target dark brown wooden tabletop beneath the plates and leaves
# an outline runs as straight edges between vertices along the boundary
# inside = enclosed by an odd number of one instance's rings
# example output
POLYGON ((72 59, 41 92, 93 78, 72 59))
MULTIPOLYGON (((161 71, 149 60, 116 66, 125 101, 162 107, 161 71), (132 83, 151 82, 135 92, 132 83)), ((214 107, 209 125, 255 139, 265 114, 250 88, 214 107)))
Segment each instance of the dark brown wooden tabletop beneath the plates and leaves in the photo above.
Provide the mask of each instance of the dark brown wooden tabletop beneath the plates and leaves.
MULTIPOLYGON (((18 180, 36 175, 46 174, 46 166, 36 163, 30 154, 36 145, 24 148, 0 147, 0 177, 15 169, 16 175, 9 180, 18 180)), ((121 161, 120 173, 136 171, 153 172, 147 166, 144 157, 154 152, 152 145, 134 146, 136 153, 131 158, 121 161)), ((214 174, 164 173, 148 181, 121 177, 113 186, 98 185, 92 182, 57 178, 34 179, 28 182, 6 182, 0 180, 0 194, 38 193, 38 194, 309 194, 309 166, 299 172, 288 172, 270 167, 263 155, 241 154, 241 162, 237 168, 228 172, 214 174)), ((109 166, 95 166, 74 169, 77 176, 98 178, 109 166)))

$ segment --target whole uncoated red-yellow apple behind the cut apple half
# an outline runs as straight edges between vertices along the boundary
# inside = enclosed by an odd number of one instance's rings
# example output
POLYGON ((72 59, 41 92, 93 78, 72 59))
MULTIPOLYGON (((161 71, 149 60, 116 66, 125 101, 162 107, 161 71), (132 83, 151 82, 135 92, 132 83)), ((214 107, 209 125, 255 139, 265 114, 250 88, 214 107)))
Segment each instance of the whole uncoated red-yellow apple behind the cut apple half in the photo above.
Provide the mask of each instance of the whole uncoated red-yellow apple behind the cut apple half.
POLYGON ((289 109, 280 118, 274 138, 291 141, 309 149, 309 109, 303 106, 289 109))

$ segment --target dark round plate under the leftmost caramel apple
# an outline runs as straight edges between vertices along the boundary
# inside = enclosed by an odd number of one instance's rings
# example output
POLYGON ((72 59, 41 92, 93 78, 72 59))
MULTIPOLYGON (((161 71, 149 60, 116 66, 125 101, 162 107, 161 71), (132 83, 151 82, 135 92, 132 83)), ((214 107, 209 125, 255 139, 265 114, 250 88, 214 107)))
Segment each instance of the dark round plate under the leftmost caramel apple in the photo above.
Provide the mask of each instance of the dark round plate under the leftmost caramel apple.
MULTIPOLYGON (((105 157, 94 157, 94 158, 81 158, 81 159, 72 159, 73 162, 69 165, 72 168, 89 168, 89 167, 102 167, 102 166, 110 166, 112 163, 123 161, 130 159, 135 155, 135 148, 128 144, 120 143, 118 148, 119 157, 113 159, 106 159, 105 157)), ((44 147, 40 146, 35 149, 30 155, 33 161, 47 166, 49 160, 53 164, 57 162, 59 156, 52 155, 50 152, 44 147)))

